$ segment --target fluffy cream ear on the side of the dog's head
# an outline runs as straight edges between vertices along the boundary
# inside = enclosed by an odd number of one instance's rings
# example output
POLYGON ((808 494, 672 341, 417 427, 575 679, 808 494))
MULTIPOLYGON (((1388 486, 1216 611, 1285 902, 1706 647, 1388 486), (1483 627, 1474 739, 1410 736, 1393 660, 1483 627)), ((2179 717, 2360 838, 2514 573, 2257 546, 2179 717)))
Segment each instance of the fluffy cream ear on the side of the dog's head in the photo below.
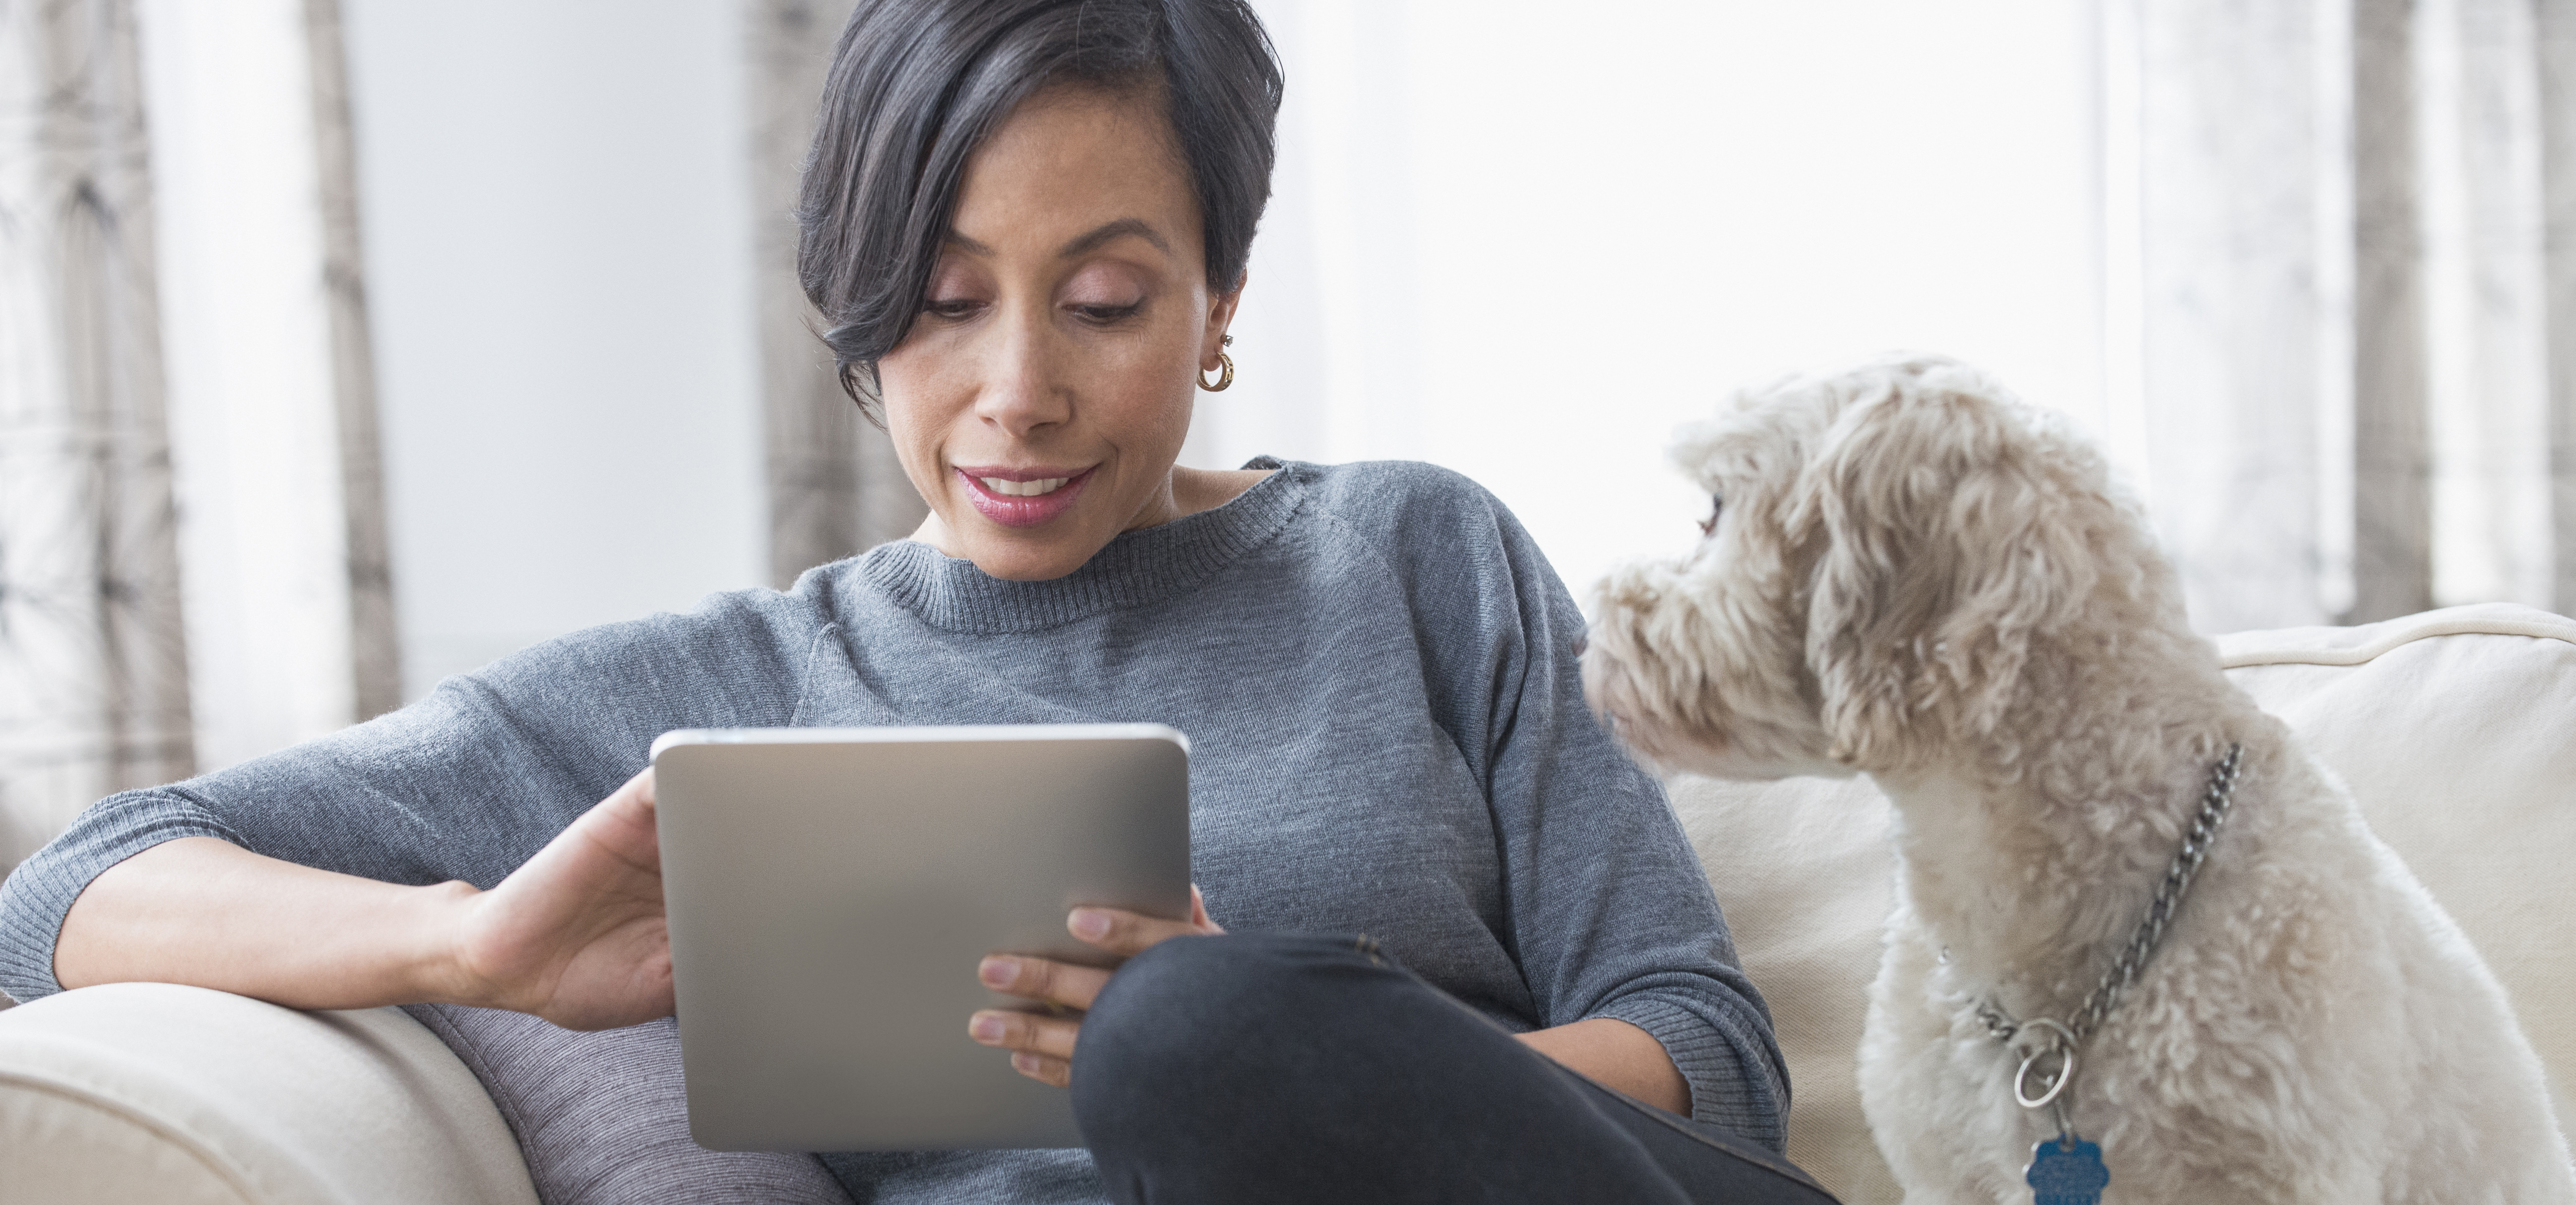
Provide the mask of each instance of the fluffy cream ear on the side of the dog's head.
POLYGON ((1893 371, 1798 476, 1806 659, 1837 762, 1906 767, 1991 736, 2032 639, 2094 592, 2099 461, 1991 394, 1958 366, 1893 371))

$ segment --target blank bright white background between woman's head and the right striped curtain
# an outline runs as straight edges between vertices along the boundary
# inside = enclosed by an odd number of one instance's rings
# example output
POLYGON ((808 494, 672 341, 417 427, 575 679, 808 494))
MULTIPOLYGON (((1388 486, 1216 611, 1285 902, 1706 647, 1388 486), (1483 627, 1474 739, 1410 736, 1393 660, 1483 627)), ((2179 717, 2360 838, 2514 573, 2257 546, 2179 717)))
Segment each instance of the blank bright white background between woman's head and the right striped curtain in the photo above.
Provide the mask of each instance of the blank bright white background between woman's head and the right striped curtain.
POLYGON ((1698 538, 1662 448, 1744 381, 1942 350, 2117 435, 2087 8, 1260 3, 1280 173, 1188 463, 1445 463, 1582 597, 1698 538))

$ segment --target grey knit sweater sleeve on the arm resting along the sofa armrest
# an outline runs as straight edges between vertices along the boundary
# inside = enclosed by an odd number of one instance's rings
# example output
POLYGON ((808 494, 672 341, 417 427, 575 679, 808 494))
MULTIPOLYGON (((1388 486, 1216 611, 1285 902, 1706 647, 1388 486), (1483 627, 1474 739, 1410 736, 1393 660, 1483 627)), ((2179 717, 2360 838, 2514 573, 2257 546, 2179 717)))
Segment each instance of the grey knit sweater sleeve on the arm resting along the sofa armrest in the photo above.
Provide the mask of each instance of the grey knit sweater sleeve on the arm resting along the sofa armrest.
POLYGON ((793 595, 716 595, 564 636, 291 749, 85 808, 0 883, 0 991, 62 991, 54 940, 111 865, 160 842, 245 850, 386 883, 489 888, 688 726, 788 724, 819 628, 793 595))

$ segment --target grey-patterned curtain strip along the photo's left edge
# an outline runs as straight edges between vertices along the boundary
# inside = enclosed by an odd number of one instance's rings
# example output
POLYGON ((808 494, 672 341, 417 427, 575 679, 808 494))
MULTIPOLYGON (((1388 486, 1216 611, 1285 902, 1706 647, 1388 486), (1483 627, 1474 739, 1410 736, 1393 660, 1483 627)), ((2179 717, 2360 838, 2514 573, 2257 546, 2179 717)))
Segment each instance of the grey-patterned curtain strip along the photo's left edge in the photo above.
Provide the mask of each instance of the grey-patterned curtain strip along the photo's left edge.
POLYGON ((0 0, 0 865, 191 765, 134 8, 0 0))

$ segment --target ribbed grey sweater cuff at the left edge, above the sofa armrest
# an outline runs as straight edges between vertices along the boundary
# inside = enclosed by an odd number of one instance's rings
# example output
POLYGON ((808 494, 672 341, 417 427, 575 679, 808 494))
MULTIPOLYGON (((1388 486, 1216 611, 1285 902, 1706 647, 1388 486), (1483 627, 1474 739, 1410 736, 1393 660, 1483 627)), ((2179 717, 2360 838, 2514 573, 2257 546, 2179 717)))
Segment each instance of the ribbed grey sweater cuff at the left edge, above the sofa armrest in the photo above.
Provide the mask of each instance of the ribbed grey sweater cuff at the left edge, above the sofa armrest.
POLYGON ((129 790, 90 803, 72 827, 0 883, 0 994, 28 1002, 62 991, 54 940, 93 878, 160 842, 242 839, 204 803, 173 790, 129 790))

